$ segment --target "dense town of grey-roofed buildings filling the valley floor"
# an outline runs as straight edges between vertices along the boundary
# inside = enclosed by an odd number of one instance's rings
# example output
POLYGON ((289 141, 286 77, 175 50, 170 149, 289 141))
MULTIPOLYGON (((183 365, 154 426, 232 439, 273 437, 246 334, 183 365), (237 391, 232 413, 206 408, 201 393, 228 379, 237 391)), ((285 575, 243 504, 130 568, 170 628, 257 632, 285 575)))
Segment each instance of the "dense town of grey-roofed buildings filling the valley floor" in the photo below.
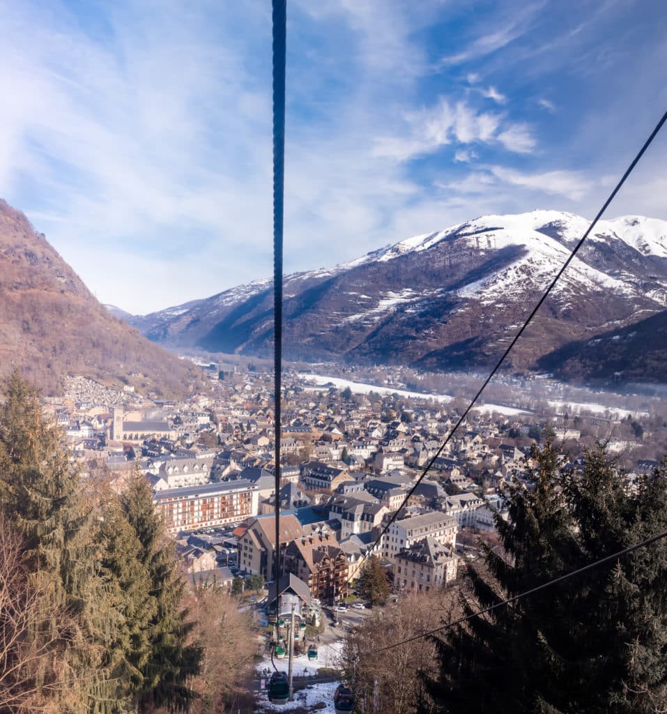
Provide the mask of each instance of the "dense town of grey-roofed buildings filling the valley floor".
MULTIPOLYGON (((212 364, 208 375, 210 395, 186 401, 71 378, 66 398, 50 400, 49 409, 84 476, 120 487, 138 469, 151 481, 187 573, 230 588, 251 575, 270 582, 273 377, 252 364, 227 372, 212 364)), ((531 445, 549 426, 517 410, 472 413, 378 540, 456 423, 452 404, 387 388, 353 393, 295 372, 284 383, 280 575, 292 573, 311 598, 330 605, 345 598, 370 555, 382 560, 396 593, 454 580, 477 538, 493 540, 494 517, 506 518, 501 485, 529 478, 531 445)), ((646 432, 629 416, 559 418, 551 431, 575 446, 601 424, 621 434, 609 438, 610 453, 641 449, 646 432)), ((572 453, 564 468, 576 468, 572 453)), ((655 465, 636 461, 637 471, 655 465)))

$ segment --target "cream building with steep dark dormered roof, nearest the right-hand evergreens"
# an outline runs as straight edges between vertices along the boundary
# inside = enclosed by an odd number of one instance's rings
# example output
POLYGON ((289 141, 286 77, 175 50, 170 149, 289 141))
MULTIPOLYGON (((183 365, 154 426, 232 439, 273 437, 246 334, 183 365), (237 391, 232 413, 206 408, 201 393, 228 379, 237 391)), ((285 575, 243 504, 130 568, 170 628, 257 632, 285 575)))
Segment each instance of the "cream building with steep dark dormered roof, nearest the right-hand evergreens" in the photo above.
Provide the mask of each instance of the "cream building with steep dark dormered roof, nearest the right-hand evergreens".
POLYGON ((453 548, 427 535, 396 556, 394 587, 404 592, 442 588, 456 578, 457 562, 453 548))

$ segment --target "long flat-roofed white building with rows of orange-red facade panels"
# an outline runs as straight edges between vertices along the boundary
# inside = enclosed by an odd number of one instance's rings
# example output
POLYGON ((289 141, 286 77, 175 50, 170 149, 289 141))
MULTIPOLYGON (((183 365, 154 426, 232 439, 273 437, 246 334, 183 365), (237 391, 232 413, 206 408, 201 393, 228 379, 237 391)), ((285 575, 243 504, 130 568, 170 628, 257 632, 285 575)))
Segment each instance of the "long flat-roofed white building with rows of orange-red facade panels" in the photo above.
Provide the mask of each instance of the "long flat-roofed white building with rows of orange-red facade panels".
POLYGON ((238 523, 256 516, 258 491, 250 481, 166 488, 153 496, 168 533, 238 523))

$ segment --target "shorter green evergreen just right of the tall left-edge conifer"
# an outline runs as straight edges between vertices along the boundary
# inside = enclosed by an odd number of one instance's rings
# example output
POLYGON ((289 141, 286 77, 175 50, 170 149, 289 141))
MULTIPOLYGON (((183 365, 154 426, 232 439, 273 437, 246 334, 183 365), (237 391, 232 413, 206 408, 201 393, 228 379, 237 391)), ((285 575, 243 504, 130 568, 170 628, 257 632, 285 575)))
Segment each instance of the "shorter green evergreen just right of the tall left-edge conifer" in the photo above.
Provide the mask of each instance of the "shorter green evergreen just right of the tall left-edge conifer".
POLYGON ((195 696, 188 681, 199 673, 203 653, 199 643, 190 643, 193 625, 180 606, 185 582, 173 543, 166 538, 151 488, 141 474, 128 481, 121 503, 139 541, 139 560, 146 566, 154 604, 147 633, 151 654, 139 667, 139 707, 143 711, 162 706, 187 711, 195 696))

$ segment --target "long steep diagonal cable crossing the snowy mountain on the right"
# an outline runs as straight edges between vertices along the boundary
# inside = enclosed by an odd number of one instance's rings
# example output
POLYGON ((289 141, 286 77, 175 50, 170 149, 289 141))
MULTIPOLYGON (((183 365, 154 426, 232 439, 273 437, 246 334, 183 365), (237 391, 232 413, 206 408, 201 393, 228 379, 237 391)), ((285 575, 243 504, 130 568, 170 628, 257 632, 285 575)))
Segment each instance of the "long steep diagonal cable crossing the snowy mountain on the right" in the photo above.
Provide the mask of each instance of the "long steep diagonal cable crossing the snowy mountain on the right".
MULTIPOLYGON (((526 330, 526 327, 529 326, 532 319, 536 315, 537 311, 539 310, 539 308, 541 308, 542 303, 544 303, 546 298, 549 297, 549 294, 554 289, 554 286, 556 286, 556 283, 559 281, 559 279, 565 272, 567 266, 569 266, 569 264, 571 263, 574 256, 576 256, 576 253, 579 252, 579 248, 581 248, 581 246, 584 245, 584 241, 586 240, 586 238, 589 237, 589 234, 595 227, 596 223, 600 220, 602 214, 609 207, 609 204, 611 203, 611 201, 613 201, 613 198, 616 196, 616 193, 618 193, 618 191, 620 191, 621 186, 623 186, 623 183, 626 182, 626 178, 628 178, 628 176, 630 176, 633 169, 637 165, 639 159, 641 159, 641 157, 643 156, 646 149, 648 149, 648 147, 651 146, 651 142, 653 141, 653 139, 656 138, 658 131, 660 131, 662 129, 663 124, 665 124, 665 121, 667 121, 667 111, 663 114, 660 121, 658 121, 658 124, 656 124, 656 128, 653 129, 653 131, 651 132, 651 136, 649 136, 648 139, 646 139, 646 141, 644 142, 644 144, 641 147, 641 149, 639 150, 638 154, 635 156, 635 158, 631 162, 630 166, 628 166, 628 168, 626 169, 626 172, 621 177, 621 180, 618 181, 618 183, 616 183, 616 187, 609 194, 609 198, 607 198, 607 200, 604 202, 604 205, 602 206, 602 208, 600 208, 600 210, 598 211, 597 216, 593 219, 593 222, 591 223, 589 228, 586 230, 586 233, 584 233, 584 235, 581 236, 581 238, 579 239, 579 242, 576 244, 576 246, 574 246, 574 248, 572 249, 567 260, 563 263, 563 265, 561 266, 558 273, 556 273, 556 277, 554 277, 554 279, 549 284, 549 287, 546 288, 546 291, 544 291, 541 298, 539 298, 539 301, 537 302, 536 306, 531 310, 531 313, 524 321, 524 324, 521 326, 521 329, 519 329, 519 331, 516 333, 516 335, 514 336, 512 341, 509 343, 509 346, 506 348, 506 350, 502 354, 501 358, 497 361, 496 366, 494 366, 492 371, 489 373, 489 376, 487 376, 487 378, 484 380, 484 382, 482 383, 482 386, 477 391, 477 394, 475 394, 475 396, 472 398, 472 401, 469 403, 469 405, 467 406, 464 413, 462 413, 462 415, 459 417, 459 420, 457 421, 457 423, 454 424, 454 427, 452 428, 452 430, 449 431, 449 433, 447 434, 447 437, 442 442, 442 444, 440 445, 440 448, 437 450, 435 455, 432 457, 432 459, 429 461, 429 463, 427 463, 427 466, 426 466, 426 468, 424 468, 424 471, 422 471, 421 476, 419 476, 417 481, 414 483, 414 486, 412 486, 412 488, 410 488, 410 490, 407 492, 405 498, 403 499, 403 501, 402 501, 401 505, 399 506, 399 508, 397 509, 397 511, 394 511, 394 513, 392 513, 392 516, 389 518, 389 521, 387 521, 386 526, 384 526, 384 528, 382 528, 382 531, 380 532, 380 535, 378 535, 377 540, 375 540, 375 543, 373 543, 371 548, 369 548, 369 550, 367 550, 367 554, 364 555, 364 557, 362 558, 362 561, 361 561, 359 567, 355 568, 355 573, 359 572, 359 568, 361 567, 361 565, 369 557, 370 553, 372 553, 372 551, 375 550, 375 548, 377 548, 377 544, 380 543, 380 541, 382 540, 382 537, 385 535, 385 533, 387 533, 387 531, 389 530, 389 527, 392 525, 392 523, 394 523, 398 514, 403 510, 403 508, 405 507, 405 504, 409 501, 409 498, 412 496, 414 491, 417 489, 417 486, 419 486, 419 484, 422 483, 422 479, 424 478, 424 476, 426 476, 427 473, 431 470, 433 464, 435 463, 436 459, 442 453, 444 447, 447 446, 447 444, 449 443, 452 436, 454 436, 454 433, 457 432, 457 429, 459 428, 459 426, 461 426, 461 424, 463 423, 465 418, 468 416, 469 411, 473 408, 474 404, 477 402, 479 397, 482 396, 482 392, 484 391, 484 389, 487 388, 487 386, 488 386, 489 382, 492 380, 492 378, 494 378, 494 376, 497 373, 497 371, 499 370, 501 364, 505 361, 505 358, 509 355, 509 353, 511 352, 511 349, 514 348, 514 345, 516 344, 516 342, 519 341, 519 338, 526 330)), ((352 577, 354 577, 354 576, 352 576, 352 577)), ((352 580, 352 578, 348 578, 345 581, 345 585, 343 585, 343 587, 346 588, 347 585, 350 584, 351 580, 352 580)))

